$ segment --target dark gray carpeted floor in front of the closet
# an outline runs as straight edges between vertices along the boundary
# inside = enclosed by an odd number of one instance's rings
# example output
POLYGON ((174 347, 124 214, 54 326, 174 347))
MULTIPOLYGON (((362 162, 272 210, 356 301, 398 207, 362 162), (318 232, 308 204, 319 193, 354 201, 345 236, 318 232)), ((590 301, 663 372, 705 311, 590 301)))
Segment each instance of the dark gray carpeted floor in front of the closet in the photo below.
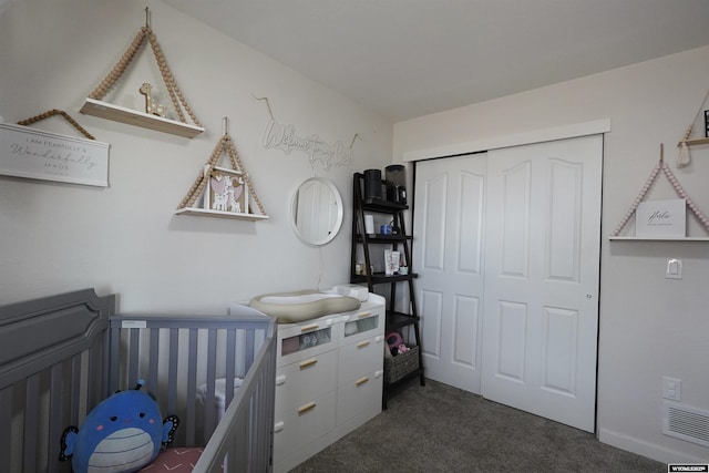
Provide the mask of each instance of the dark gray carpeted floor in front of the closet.
POLYGON ((292 473, 667 472, 584 431, 431 380, 292 473))

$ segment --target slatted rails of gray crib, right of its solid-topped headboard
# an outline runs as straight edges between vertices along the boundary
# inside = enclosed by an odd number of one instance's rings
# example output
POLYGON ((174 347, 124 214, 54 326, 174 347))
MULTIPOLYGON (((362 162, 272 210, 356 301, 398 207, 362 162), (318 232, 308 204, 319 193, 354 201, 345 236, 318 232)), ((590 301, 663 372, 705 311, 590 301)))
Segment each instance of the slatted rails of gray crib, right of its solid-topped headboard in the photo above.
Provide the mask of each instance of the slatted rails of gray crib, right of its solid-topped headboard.
POLYGON ((111 317, 109 385, 144 380, 163 414, 181 418, 175 445, 206 443, 195 472, 270 471, 277 326, 253 312, 111 317), (217 392, 235 379, 238 390, 217 392))

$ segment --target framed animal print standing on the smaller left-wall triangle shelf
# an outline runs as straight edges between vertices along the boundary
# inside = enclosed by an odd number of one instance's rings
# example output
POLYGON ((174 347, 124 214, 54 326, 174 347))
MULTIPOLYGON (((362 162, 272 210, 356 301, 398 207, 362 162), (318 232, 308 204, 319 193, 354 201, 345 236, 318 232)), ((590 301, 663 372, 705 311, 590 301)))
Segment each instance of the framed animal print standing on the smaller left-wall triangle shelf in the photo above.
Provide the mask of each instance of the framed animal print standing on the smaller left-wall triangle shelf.
POLYGON ((214 167, 204 193, 204 208, 248 214, 248 189, 244 175, 234 169, 214 167))

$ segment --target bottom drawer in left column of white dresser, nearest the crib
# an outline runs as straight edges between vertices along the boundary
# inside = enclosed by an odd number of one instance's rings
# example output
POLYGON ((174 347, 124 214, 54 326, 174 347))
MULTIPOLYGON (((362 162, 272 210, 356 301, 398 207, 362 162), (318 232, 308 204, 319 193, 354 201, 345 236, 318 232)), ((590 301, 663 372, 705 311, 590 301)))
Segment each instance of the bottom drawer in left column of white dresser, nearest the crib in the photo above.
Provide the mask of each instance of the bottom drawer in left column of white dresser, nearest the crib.
POLYGON ((274 424, 274 463, 327 434, 335 428, 336 391, 276 412, 274 424))

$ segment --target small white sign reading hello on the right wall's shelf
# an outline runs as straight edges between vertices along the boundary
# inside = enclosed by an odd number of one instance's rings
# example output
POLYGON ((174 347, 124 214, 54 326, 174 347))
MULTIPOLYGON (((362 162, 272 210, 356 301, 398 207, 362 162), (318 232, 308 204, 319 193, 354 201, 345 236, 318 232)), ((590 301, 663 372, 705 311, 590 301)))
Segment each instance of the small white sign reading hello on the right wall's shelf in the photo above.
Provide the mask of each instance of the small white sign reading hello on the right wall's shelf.
POLYGON ((646 200, 635 210, 635 236, 685 237, 687 236, 687 202, 646 200))

